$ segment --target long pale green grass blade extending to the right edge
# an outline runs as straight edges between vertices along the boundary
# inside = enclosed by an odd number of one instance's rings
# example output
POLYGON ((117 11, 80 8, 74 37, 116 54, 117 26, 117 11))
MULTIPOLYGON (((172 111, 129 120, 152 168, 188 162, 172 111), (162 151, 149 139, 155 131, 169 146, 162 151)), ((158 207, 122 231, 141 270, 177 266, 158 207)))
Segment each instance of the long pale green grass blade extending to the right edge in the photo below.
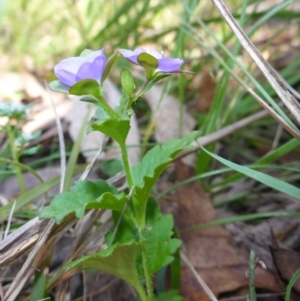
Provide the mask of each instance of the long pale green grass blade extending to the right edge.
POLYGON ((277 178, 274 178, 272 176, 266 175, 262 172, 253 170, 249 167, 241 166, 236 163, 230 162, 224 158, 221 158, 220 156, 213 154, 206 150, 204 147, 201 146, 201 149, 205 151, 207 154, 218 160, 219 162, 223 163, 224 165, 244 174, 245 176, 248 176, 249 178, 252 178, 262 184, 265 184, 268 187, 271 187, 275 190, 278 190, 280 192, 283 192, 297 200, 300 200, 300 189, 286 183, 282 180, 279 180, 277 178))

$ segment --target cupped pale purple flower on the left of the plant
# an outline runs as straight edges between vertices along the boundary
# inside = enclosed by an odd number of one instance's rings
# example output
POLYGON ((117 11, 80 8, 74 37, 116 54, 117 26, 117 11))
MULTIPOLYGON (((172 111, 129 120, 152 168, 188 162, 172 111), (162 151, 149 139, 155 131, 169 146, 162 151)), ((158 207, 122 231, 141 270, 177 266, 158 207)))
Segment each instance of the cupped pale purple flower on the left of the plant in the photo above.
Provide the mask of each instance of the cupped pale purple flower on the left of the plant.
POLYGON ((84 79, 94 79, 100 83, 105 66, 106 57, 101 49, 85 57, 64 59, 54 67, 54 72, 60 82, 72 87, 84 79))

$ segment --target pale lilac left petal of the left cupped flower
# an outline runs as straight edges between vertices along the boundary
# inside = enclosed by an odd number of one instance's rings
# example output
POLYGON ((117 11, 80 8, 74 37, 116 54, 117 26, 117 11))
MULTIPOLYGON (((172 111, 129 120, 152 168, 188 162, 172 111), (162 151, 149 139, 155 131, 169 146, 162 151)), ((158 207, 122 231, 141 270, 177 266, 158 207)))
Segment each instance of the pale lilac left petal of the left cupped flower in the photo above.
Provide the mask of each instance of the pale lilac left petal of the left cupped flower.
POLYGON ((64 59, 54 67, 54 72, 63 84, 71 87, 76 83, 76 74, 84 61, 81 57, 64 59))

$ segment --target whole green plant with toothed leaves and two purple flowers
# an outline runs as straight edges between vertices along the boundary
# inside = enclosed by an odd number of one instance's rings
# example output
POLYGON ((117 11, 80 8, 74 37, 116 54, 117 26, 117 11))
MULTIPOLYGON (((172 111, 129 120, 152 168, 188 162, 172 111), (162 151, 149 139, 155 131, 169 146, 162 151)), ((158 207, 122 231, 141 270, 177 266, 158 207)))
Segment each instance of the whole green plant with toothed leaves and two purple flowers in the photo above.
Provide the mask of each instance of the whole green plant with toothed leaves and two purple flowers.
MULTIPOLYGON (((57 195, 44 208, 41 218, 54 218, 60 223, 71 213, 80 219, 90 209, 112 210, 114 224, 115 227, 118 224, 118 228, 117 231, 112 229, 107 233, 107 248, 79 258, 65 269, 76 267, 110 273, 132 285, 143 301, 162 297, 154 295, 153 275, 173 260, 173 254, 180 246, 180 241, 172 238, 172 216, 161 214, 150 193, 168 164, 180 151, 190 147, 197 133, 154 147, 133 167, 128 160, 126 138, 130 118, 134 114, 132 104, 162 78, 171 73, 183 72, 179 70, 182 64, 181 59, 163 58, 159 52, 142 48, 135 51, 121 49, 108 60, 103 49, 85 50, 80 57, 67 58, 56 65, 54 70, 58 80, 49 84, 55 91, 80 95, 81 101, 97 106, 87 131, 102 132, 118 143, 128 191, 119 193, 115 187, 102 180, 78 181, 69 192, 57 195), (143 67, 146 79, 141 87, 136 88, 132 73, 128 68, 123 68, 122 97, 119 106, 112 108, 105 100, 103 82, 119 53, 143 67)), ((168 293, 168 300, 178 300, 176 296, 168 293)))

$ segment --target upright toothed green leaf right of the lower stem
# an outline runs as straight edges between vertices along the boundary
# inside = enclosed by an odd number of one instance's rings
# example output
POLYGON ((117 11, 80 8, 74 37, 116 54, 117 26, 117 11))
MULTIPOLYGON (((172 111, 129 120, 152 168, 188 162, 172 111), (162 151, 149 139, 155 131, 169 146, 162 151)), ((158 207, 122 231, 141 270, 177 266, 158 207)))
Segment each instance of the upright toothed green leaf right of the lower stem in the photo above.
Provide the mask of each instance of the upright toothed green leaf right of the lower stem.
POLYGON ((162 215, 156 201, 149 199, 147 205, 146 250, 150 274, 154 275, 165 265, 171 263, 181 241, 173 236, 173 217, 162 215))

